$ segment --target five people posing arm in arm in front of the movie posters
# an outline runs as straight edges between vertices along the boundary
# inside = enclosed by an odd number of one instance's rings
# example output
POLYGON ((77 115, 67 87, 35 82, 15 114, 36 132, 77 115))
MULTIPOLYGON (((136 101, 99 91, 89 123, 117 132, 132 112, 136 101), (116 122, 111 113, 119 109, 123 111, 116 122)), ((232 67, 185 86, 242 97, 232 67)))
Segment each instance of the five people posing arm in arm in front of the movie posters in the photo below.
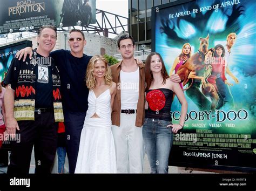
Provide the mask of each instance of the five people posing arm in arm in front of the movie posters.
POLYGON ((69 173, 143 173, 145 150, 151 173, 168 173, 173 133, 187 112, 179 76, 168 75, 157 52, 145 64, 134 59, 129 35, 118 39, 122 61, 112 66, 83 53, 82 31, 70 31, 71 51, 52 51, 56 38, 55 26, 39 29, 37 49, 19 51, 4 79, 6 132, 21 134, 12 141, 8 174, 29 173, 33 147, 35 173, 50 173, 61 121, 69 173), (42 69, 45 80, 38 78, 42 69), (179 124, 170 121, 173 94, 182 105, 179 124))

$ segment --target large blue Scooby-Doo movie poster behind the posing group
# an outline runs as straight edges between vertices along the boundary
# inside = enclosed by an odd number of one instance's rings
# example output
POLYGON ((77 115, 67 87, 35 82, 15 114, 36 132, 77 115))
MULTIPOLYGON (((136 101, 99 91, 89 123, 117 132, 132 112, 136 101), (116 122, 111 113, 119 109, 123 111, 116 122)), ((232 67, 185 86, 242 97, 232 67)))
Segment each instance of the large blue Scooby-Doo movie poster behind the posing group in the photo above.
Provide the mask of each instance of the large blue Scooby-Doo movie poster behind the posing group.
MULTIPOLYGON (((179 74, 188 112, 170 165, 256 171, 256 1, 154 7, 152 49, 179 74)), ((180 117, 175 97, 173 123, 180 117)))

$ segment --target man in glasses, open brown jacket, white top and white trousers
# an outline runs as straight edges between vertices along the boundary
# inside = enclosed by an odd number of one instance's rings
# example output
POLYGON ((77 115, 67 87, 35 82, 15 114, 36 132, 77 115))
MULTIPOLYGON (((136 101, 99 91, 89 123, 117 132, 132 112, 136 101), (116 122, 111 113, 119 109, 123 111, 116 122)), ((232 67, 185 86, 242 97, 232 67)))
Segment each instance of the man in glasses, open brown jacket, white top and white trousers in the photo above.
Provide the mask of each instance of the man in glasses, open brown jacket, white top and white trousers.
MULTIPOLYGON (((111 66, 113 81, 117 83, 111 115, 117 173, 143 173, 144 64, 137 64, 134 60, 135 43, 131 36, 121 36, 117 44, 123 59, 111 66)), ((180 82, 177 74, 171 79, 180 82)))

